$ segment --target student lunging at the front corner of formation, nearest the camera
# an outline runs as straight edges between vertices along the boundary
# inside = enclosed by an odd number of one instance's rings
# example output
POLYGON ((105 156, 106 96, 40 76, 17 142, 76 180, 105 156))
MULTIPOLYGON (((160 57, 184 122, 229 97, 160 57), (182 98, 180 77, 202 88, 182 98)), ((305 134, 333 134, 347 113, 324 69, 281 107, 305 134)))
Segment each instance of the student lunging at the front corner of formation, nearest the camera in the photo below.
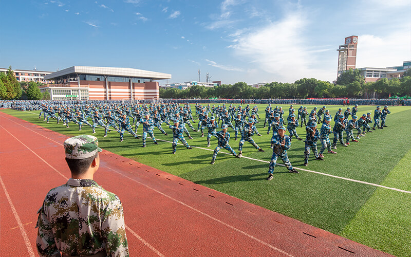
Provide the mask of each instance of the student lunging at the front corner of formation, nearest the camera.
POLYGON ((274 147, 273 155, 271 156, 271 161, 268 168, 269 175, 267 180, 273 179, 274 167, 277 163, 278 157, 283 160, 285 166, 291 173, 298 173, 298 171, 292 168, 290 160, 288 159, 287 150, 291 148, 291 139, 285 134, 285 131, 286 128, 284 126, 279 127, 278 134, 275 134, 271 139, 271 143, 274 147))

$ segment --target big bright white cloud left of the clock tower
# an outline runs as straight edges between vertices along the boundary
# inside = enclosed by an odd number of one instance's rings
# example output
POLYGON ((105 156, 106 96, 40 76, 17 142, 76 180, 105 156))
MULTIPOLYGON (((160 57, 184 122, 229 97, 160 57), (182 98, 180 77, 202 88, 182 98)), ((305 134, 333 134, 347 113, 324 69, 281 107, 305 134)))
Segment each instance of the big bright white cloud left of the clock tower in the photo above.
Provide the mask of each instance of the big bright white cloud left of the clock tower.
POLYGON ((238 57, 254 63, 277 81, 293 82, 304 77, 330 78, 333 71, 324 71, 319 67, 313 54, 319 50, 310 50, 311 43, 304 36, 308 22, 301 11, 288 13, 276 23, 248 33, 238 33, 237 41, 234 40, 229 47, 238 57))

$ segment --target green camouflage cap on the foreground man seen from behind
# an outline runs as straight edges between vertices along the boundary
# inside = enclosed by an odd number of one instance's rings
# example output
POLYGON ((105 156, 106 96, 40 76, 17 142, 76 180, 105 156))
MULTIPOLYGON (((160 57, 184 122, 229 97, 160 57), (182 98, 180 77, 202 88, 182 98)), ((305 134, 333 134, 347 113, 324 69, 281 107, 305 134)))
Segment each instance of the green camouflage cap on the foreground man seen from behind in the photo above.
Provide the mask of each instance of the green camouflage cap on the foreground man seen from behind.
POLYGON ((64 150, 67 159, 85 159, 101 152, 99 140, 95 136, 80 135, 70 137, 64 141, 64 150))

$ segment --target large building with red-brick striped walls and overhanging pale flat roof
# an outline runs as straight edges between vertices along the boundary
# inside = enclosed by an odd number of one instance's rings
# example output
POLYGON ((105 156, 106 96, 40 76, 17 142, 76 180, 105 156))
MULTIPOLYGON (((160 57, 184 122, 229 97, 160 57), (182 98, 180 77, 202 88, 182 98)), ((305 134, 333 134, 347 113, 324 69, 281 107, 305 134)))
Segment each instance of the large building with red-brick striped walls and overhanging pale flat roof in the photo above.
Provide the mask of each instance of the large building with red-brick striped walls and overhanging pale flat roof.
POLYGON ((72 66, 45 77, 54 84, 42 86, 51 100, 111 100, 158 99, 159 85, 155 80, 171 79, 170 74, 155 71, 72 66))

